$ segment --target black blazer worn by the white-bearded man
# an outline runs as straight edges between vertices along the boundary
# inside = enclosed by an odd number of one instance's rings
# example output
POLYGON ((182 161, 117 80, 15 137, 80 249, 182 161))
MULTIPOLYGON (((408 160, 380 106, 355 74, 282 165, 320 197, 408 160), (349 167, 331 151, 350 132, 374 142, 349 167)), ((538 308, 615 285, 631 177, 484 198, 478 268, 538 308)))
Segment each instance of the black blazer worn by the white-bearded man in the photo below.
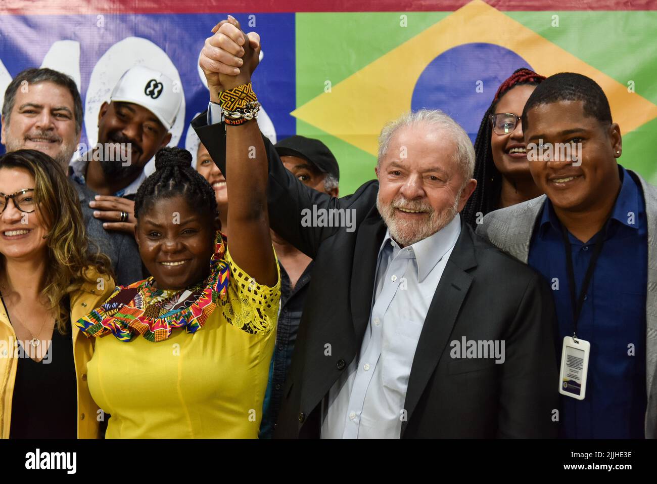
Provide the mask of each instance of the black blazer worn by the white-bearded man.
MULTIPOLYGON (((225 173, 223 124, 207 126, 203 113, 193 127, 225 173)), ((329 197, 299 182, 264 141, 271 228, 315 261, 275 437, 317 438, 321 402, 361 347, 386 226, 378 182, 329 197), (355 209, 355 231, 302 227, 313 205, 355 209)), ((401 437, 556 437, 555 325, 547 281, 463 223, 420 333, 401 437), (463 336, 505 341, 505 362, 451 358, 450 342, 463 336)))

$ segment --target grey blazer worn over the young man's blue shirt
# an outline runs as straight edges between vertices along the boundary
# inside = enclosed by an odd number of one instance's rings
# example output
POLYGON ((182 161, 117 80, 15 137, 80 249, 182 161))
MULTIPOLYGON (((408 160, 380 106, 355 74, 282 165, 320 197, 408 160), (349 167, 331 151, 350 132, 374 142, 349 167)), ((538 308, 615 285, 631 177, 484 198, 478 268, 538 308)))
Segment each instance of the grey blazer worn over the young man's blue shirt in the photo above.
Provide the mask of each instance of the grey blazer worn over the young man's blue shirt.
MULTIPOLYGON (((646 297, 646 438, 657 438, 657 187, 627 170, 641 189, 648 219, 648 290, 646 297)), ((477 227, 477 234, 516 259, 527 263, 536 219, 545 195, 518 205, 490 212, 477 227)))

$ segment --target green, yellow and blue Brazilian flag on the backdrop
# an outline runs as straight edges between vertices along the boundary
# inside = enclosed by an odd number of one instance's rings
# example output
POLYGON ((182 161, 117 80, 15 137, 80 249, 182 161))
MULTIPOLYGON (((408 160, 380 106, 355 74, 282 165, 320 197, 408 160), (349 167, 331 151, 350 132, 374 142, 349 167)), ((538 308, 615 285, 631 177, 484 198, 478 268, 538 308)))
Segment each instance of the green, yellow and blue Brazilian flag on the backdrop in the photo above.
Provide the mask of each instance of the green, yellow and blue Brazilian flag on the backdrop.
POLYGON ((579 72, 609 99, 620 162, 657 183, 654 39, 657 11, 501 11, 473 0, 453 12, 297 14, 292 115, 298 133, 334 151, 350 193, 373 178, 378 133, 402 112, 441 109, 474 142, 516 68, 579 72))

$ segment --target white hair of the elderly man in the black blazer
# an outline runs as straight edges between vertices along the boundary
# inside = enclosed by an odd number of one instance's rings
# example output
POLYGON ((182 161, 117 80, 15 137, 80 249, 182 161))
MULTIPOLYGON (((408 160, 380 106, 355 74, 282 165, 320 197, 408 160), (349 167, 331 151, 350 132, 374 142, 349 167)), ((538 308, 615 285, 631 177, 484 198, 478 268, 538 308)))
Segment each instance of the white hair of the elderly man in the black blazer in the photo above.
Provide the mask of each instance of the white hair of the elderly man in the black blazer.
POLYGON ((405 112, 396 120, 386 124, 378 137, 377 166, 380 165, 381 160, 388 152, 390 140, 399 128, 408 128, 423 123, 436 128, 438 132, 446 132, 446 135, 453 139, 456 144, 454 158, 461 170, 461 174, 464 176, 463 183, 470 180, 474 175, 474 147, 472 146, 472 141, 470 141, 468 133, 461 128, 459 123, 439 109, 420 109, 418 111, 405 112))

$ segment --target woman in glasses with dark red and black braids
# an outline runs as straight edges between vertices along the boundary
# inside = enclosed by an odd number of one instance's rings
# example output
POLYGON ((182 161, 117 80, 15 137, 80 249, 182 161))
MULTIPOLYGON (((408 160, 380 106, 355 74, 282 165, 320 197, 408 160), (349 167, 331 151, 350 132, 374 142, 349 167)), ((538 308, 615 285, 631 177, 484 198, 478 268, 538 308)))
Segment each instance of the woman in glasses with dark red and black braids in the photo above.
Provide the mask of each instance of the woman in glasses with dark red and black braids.
POLYGON ((527 99, 545 77, 520 68, 497 89, 474 142, 477 187, 461 216, 472 226, 484 215, 541 195, 533 182, 520 116, 527 99))

